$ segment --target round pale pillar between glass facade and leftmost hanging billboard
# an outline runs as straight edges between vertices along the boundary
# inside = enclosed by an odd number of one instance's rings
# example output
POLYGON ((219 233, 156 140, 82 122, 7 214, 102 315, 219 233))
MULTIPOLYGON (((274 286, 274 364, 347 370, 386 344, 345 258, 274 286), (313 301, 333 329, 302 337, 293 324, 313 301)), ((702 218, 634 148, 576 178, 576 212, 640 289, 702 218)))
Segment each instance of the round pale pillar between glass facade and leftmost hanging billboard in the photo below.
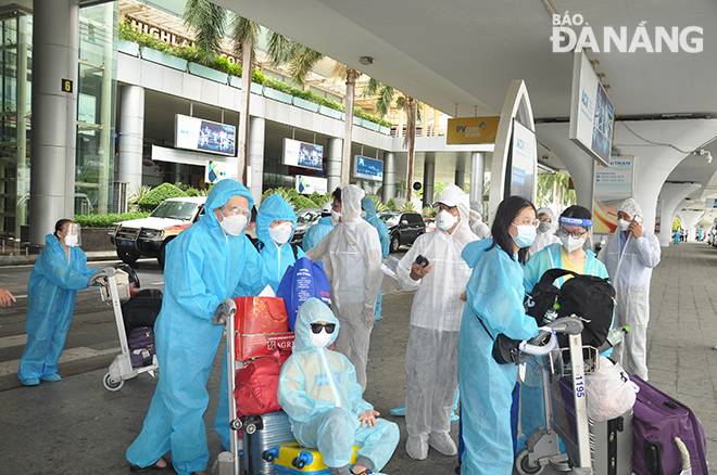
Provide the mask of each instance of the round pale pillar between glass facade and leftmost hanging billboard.
POLYGON ((127 190, 142 185, 142 143, 144 139, 144 88, 122 87, 120 110, 120 172, 127 190))

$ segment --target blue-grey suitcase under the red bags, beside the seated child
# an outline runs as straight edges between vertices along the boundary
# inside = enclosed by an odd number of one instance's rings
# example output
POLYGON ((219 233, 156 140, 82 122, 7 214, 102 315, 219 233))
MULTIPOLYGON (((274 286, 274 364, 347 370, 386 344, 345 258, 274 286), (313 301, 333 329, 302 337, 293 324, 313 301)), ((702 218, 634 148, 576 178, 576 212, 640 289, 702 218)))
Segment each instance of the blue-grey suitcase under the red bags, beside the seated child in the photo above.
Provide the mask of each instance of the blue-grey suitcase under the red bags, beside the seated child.
POLYGON ((274 463, 264 452, 282 444, 293 442, 291 423, 284 411, 242 418, 243 462, 247 475, 274 475, 274 463))

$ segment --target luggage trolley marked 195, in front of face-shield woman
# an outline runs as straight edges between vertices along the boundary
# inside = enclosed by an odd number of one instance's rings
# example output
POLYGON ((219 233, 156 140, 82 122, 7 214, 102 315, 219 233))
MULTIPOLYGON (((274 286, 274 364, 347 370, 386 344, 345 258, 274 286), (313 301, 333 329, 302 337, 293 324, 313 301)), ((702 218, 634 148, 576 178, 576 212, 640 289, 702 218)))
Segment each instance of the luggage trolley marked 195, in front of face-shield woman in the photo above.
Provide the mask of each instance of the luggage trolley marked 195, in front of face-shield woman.
POLYGON ((527 371, 540 373, 542 380, 545 426, 528 436, 526 448, 515 457, 514 467, 520 475, 539 474, 548 464, 567 468, 574 475, 592 475, 584 374, 594 370, 598 350, 582 346, 583 323, 578 317, 564 317, 548 326, 568 335, 568 347, 529 357, 533 368, 527 371), (583 349, 588 359, 583 358, 583 349), (564 361, 568 360, 566 364, 564 361), (559 450, 558 436, 565 442, 566 453, 559 450))

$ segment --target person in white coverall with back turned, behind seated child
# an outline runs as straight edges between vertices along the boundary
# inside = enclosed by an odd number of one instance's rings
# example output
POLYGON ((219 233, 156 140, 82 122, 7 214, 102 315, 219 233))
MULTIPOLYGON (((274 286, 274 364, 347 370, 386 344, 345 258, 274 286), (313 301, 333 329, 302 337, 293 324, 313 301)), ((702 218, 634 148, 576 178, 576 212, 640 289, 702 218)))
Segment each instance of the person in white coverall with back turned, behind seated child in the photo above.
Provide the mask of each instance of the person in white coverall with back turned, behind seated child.
POLYGON ((331 282, 332 309, 341 322, 334 348, 356 368, 356 380, 365 390, 370 332, 376 321, 374 308, 383 273, 378 232, 361 217, 364 195, 354 184, 341 190, 341 203, 334 201, 341 221, 306 252, 306 257, 324 265, 331 282))

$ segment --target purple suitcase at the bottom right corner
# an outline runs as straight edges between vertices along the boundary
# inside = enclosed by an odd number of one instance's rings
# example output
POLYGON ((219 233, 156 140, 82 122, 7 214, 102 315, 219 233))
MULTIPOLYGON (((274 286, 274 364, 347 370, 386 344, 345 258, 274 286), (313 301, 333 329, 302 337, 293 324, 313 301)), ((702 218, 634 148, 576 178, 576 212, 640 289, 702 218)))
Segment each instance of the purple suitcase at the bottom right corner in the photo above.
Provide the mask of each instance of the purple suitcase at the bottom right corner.
POLYGON ((678 436, 690 452, 692 475, 708 475, 705 432, 694 412, 640 377, 630 375, 630 380, 640 386, 632 409, 634 474, 678 475, 682 471, 678 436))

